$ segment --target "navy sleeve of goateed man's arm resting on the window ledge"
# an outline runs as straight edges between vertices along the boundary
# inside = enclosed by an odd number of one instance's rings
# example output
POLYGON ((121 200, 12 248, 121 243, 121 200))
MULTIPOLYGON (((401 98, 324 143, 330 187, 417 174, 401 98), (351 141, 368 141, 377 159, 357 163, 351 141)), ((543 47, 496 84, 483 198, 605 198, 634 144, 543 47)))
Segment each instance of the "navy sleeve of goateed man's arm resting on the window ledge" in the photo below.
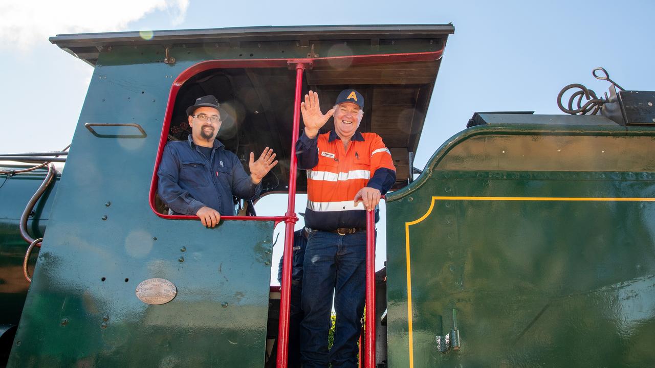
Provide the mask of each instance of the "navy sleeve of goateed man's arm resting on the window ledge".
POLYGON ((157 194, 171 210, 184 215, 195 215, 205 206, 179 186, 179 158, 170 145, 164 147, 157 177, 157 194))

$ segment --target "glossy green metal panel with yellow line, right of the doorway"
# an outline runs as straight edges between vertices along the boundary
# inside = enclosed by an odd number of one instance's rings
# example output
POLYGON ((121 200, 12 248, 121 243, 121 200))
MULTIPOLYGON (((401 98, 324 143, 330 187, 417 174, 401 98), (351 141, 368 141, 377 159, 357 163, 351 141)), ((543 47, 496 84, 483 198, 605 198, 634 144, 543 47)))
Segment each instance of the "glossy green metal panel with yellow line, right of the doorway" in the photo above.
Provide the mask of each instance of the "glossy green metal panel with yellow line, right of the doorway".
POLYGON ((655 365, 655 131, 522 128, 465 130, 388 196, 390 367, 655 365))

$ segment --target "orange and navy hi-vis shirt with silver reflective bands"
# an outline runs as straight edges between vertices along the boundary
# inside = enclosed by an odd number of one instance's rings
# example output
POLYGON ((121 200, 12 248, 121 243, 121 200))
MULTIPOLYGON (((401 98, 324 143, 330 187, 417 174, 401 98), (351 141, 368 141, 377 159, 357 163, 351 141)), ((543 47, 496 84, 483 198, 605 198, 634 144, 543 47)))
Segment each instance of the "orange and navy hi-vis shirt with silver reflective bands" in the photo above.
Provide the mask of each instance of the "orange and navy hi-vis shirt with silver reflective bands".
MULTIPOLYGON (((382 138, 355 135, 344 149, 334 131, 298 140, 298 167, 307 170, 305 226, 318 230, 366 227, 364 204, 354 203, 363 187, 385 194, 396 181, 396 168, 382 138)), ((377 210, 376 210, 377 217, 377 210)))

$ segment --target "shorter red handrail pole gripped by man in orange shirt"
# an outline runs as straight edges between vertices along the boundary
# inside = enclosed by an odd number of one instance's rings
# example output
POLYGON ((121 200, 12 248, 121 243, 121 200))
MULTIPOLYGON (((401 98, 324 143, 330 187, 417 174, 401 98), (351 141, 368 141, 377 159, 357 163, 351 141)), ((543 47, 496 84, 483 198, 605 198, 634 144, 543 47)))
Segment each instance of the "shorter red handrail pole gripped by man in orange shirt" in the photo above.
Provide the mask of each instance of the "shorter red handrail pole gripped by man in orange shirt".
POLYGON ((369 211, 366 212, 366 368, 375 368, 375 322, 375 211, 369 211))

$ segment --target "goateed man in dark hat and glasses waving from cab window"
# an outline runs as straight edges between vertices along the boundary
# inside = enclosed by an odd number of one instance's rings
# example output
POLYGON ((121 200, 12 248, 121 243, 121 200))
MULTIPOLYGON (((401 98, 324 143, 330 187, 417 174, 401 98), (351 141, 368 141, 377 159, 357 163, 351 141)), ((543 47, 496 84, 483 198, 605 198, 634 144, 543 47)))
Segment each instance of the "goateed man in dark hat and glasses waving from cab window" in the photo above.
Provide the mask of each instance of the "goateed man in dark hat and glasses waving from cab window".
POLYGON ((250 153, 250 175, 216 135, 221 128, 219 103, 203 96, 187 109, 191 135, 164 147, 157 176, 157 193, 171 214, 196 215, 202 225, 215 227, 222 215, 234 215, 233 195, 246 200, 259 196, 261 179, 278 161, 266 147, 255 161, 250 153))

